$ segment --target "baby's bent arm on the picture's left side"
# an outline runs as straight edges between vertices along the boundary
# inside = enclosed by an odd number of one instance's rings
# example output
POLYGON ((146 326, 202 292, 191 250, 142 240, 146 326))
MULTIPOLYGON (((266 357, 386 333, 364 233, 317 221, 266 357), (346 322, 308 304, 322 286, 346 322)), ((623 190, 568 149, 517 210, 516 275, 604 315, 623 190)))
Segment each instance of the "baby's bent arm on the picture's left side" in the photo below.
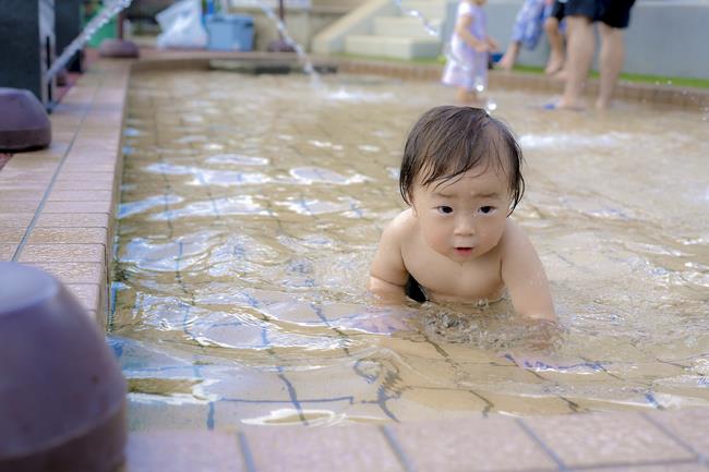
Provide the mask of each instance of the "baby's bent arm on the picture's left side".
POLYGON ((370 269, 369 289, 385 302, 406 301, 404 287, 409 274, 401 258, 404 226, 404 214, 401 214, 384 228, 370 269))

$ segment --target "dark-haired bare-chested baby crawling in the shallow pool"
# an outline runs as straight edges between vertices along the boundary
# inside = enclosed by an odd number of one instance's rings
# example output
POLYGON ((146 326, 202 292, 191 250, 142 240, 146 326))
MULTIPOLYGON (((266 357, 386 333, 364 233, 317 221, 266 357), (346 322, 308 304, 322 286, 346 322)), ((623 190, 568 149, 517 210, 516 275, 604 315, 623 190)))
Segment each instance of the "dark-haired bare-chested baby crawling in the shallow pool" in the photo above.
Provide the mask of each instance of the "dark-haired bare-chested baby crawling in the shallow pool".
POLYGON ((541 261, 508 218, 525 190, 521 162, 512 132, 485 110, 425 112, 409 133, 399 176, 410 208, 384 229, 369 289, 387 302, 508 295, 519 315, 554 320, 541 261))

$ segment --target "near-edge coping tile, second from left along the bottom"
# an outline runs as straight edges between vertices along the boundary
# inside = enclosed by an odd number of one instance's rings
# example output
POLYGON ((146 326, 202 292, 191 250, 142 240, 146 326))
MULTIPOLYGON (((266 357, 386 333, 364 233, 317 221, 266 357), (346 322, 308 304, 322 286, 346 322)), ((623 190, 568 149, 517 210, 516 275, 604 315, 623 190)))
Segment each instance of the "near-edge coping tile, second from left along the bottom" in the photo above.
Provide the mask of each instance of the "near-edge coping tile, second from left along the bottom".
POLYGON ((250 427, 244 434, 260 472, 402 471, 375 426, 250 427))

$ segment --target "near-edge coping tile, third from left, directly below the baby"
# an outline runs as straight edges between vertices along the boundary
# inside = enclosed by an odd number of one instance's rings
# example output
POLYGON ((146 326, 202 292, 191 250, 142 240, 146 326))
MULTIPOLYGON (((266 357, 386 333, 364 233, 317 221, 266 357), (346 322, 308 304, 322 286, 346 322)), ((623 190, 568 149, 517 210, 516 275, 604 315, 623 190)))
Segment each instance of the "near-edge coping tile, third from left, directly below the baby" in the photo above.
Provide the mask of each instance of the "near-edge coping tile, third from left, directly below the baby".
POLYGON ((405 423, 390 429, 420 471, 557 470, 554 460, 510 417, 405 423))

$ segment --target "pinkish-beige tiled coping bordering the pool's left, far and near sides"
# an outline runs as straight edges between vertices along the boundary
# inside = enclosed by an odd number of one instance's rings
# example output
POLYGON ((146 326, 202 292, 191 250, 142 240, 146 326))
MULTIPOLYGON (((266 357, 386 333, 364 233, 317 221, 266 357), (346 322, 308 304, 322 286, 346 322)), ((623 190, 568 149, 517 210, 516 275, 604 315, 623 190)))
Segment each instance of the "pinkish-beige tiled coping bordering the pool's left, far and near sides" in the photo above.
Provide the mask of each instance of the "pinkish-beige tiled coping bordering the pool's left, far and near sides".
MULTIPOLYGON (((55 275, 101 326, 110 316, 110 262, 120 196, 122 128, 132 71, 204 68, 213 59, 296 63, 291 55, 156 50, 142 53, 139 61, 95 62, 51 113, 51 145, 17 154, 0 169, 0 261, 14 259, 55 275)), ((433 65, 339 58, 314 60, 334 63, 341 72, 402 80, 437 81, 441 73, 441 68, 433 65)), ((550 93, 561 89, 561 83, 537 74, 493 71, 491 75, 494 87, 550 93)), ((618 96, 706 111, 709 92, 671 88, 621 84, 618 96)), ((708 422, 709 409, 699 408, 522 419, 472 415, 445 422, 326 429, 244 426, 236 432, 132 433, 124 470, 197 470, 209 464, 207 470, 262 471, 278 470, 284 463, 291 464, 291 470, 337 467, 407 472, 623 470, 630 465, 648 470, 707 470, 709 440, 700 433, 706 432, 708 422), (515 447, 510 448, 510 444, 515 447), (181 449, 189 453, 175 453, 181 449)))

